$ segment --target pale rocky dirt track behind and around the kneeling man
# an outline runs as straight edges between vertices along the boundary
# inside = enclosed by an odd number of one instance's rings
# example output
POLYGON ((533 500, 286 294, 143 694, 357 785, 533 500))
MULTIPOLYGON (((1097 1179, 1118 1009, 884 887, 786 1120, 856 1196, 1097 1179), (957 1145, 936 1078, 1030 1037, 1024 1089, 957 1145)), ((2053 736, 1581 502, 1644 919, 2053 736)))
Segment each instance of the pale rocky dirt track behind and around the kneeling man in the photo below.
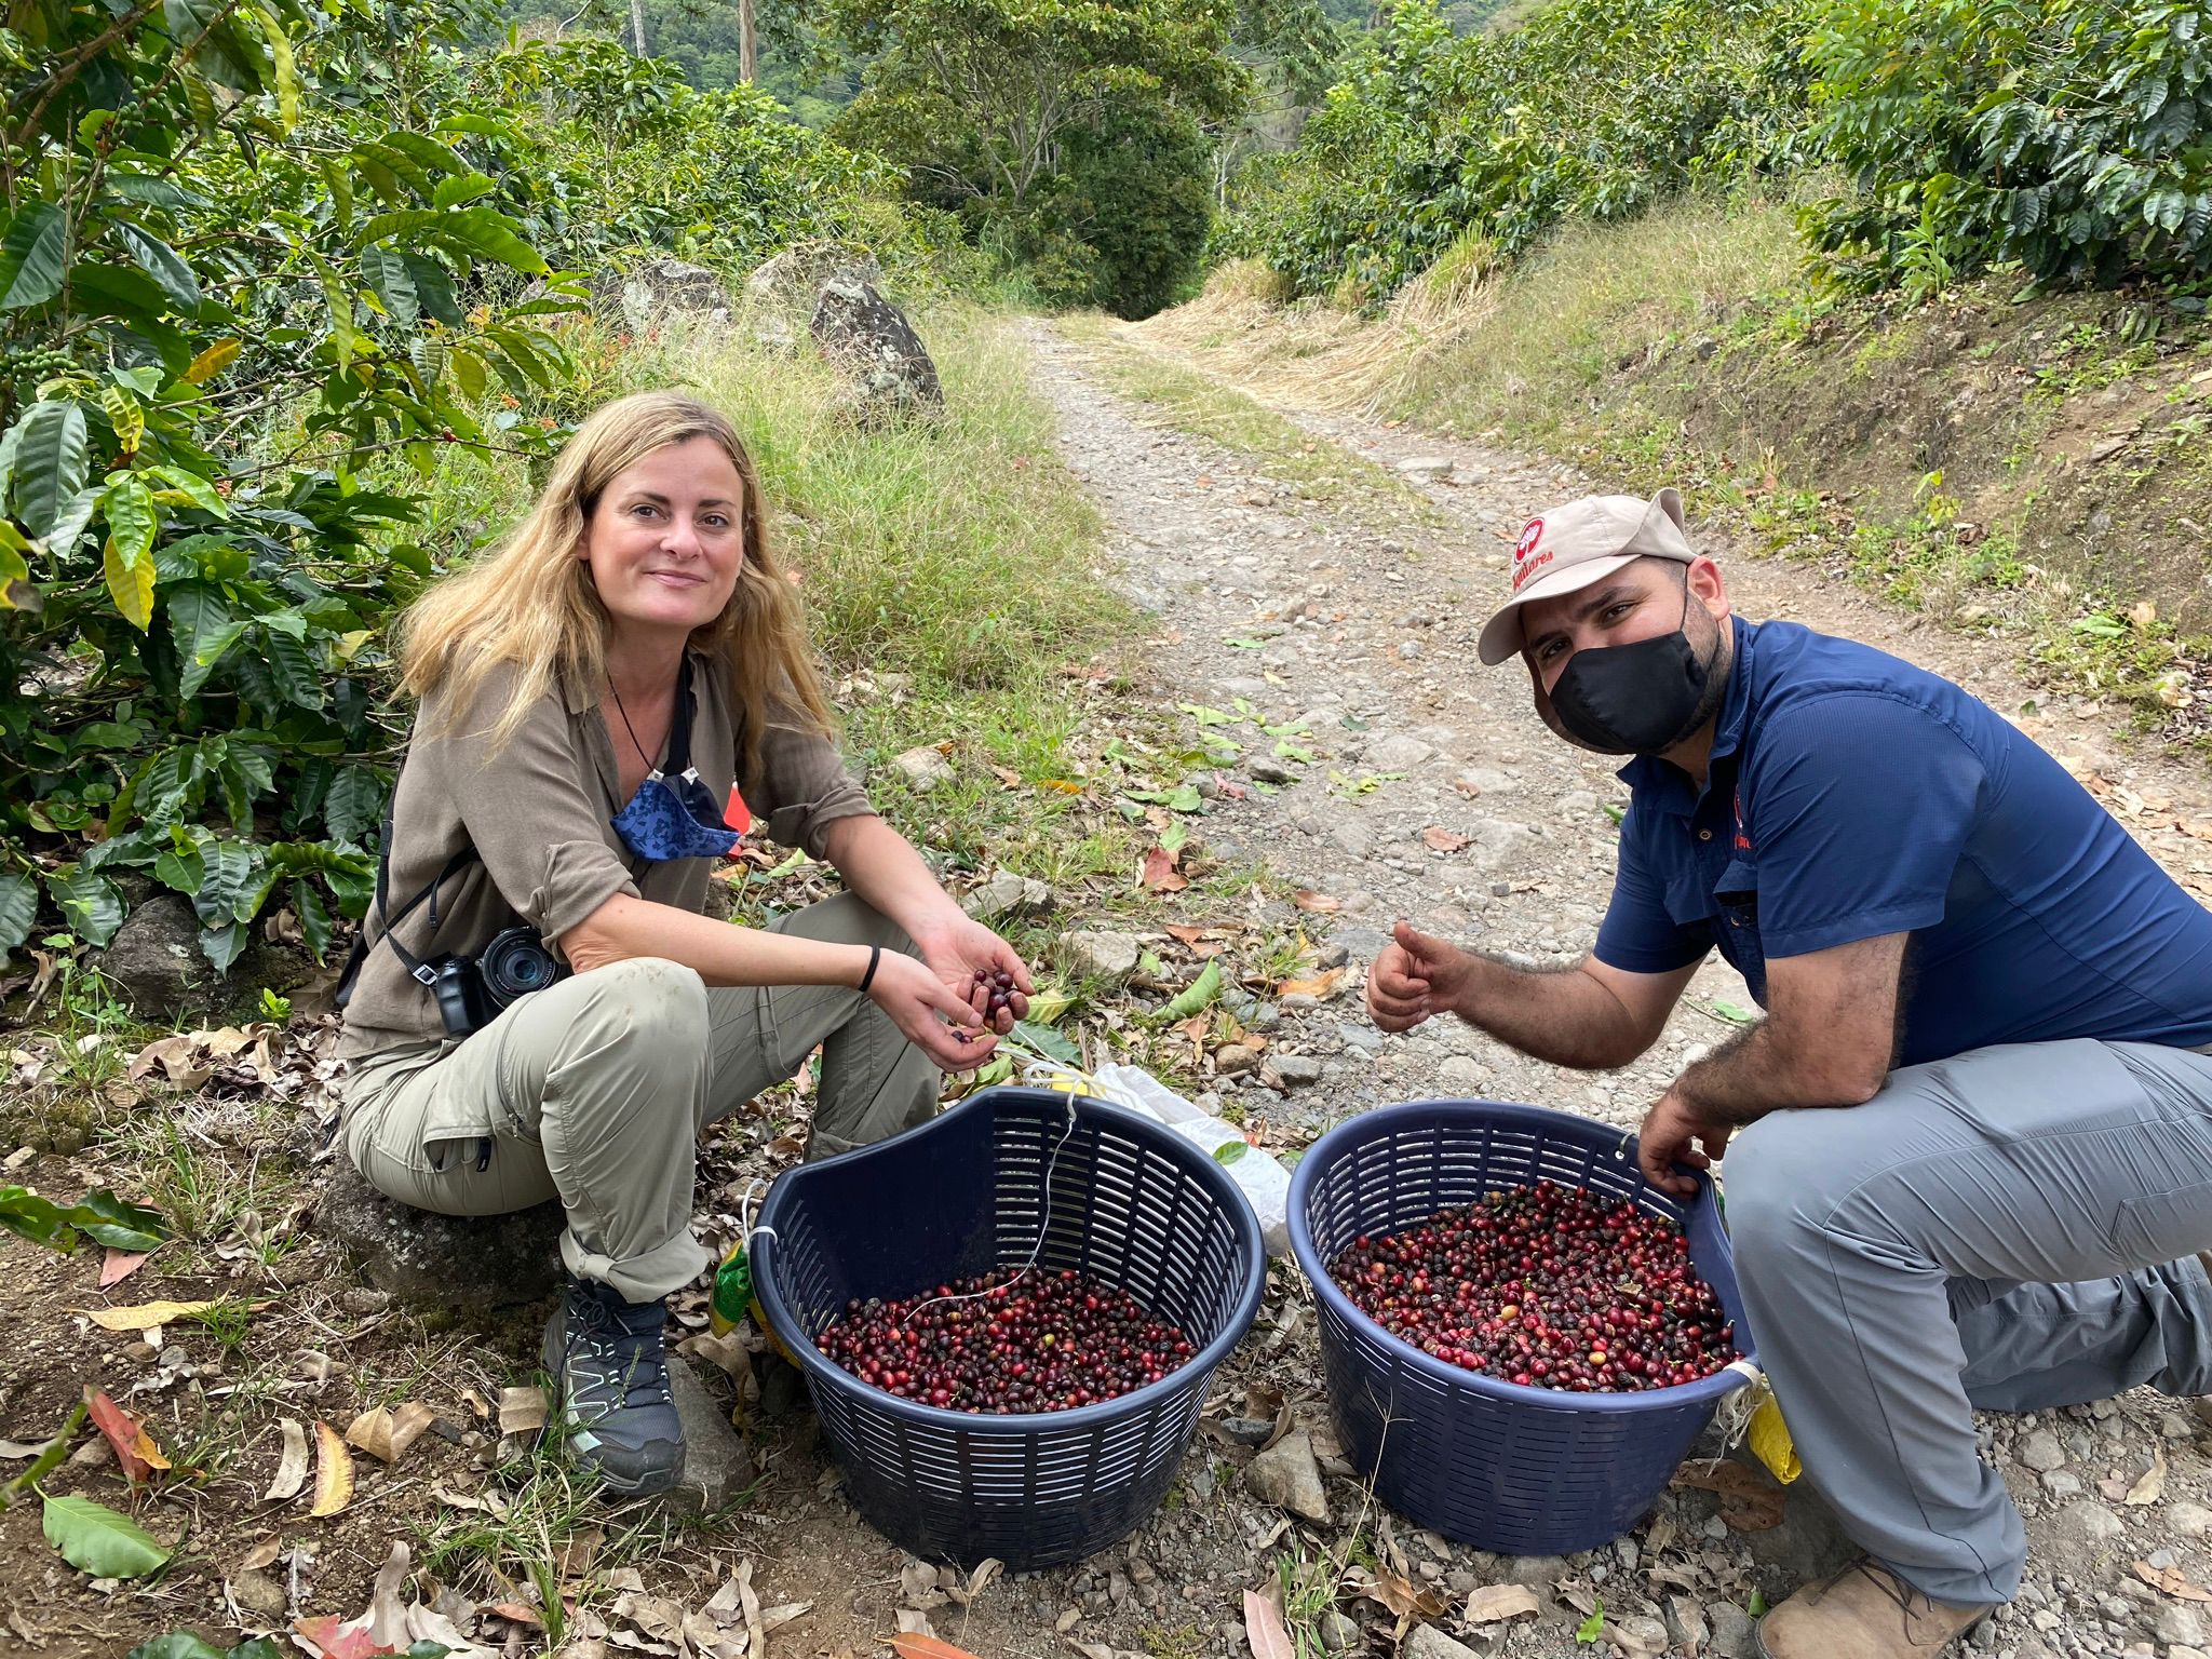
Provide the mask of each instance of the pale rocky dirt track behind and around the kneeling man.
MULTIPOLYGON (((1263 858, 1340 905, 1332 947, 1349 958, 1345 991, 1316 1006, 1287 1000, 1272 1048, 1318 1064, 1276 1062, 1276 1077, 1217 1079, 1219 1097, 1292 1133, 1425 1095, 1526 1099, 1632 1128, 1681 1064, 1747 1011, 1743 982, 1725 964, 1697 975, 1650 1055, 1597 1077, 1528 1062, 1455 1022, 1385 1037, 1356 995, 1398 916, 1557 964, 1573 962, 1595 933, 1615 854, 1606 807, 1626 801, 1626 790, 1599 757, 1542 728, 1515 666, 1482 670, 1473 637, 1502 591, 1522 522, 1601 484, 1524 456, 1312 418, 1316 440, 1411 487, 1332 507, 1270 480, 1252 456, 1172 431, 1155 409, 1113 396, 1066 338, 1040 327, 1035 349, 1066 460, 1110 520, 1128 591, 1155 617, 1144 650, 1161 701, 1230 714, 1210 730, 1243 748, 1199 834, 1214 854, 1263 858), (1252 719, 1237 719, 1245 712, 1252 719), (1290 732, 1281 750, 1261 723, 1290 732), (1296 1086, 1305 1077, 1314 1082, 1296 1086)), ((1692 522, 1694 511, 1692 498, 1692 522)), ((1851 635, 1951 675, 2000 710, 2033 710, 2020 714, 2022 726, 2192 891, 2212 898, 2203 774, 2130 754, 2112 734, 2117 710, 2079 699, 2035 708, 2002 648, 1920 628, 1836 573, 1708 544, 1745 615, 1851 635)), ((1989 1418, 1984 1433, 2028 1515, 2035 1564, 2022 1599, 1982 1626, 1975 1650, 2199 1659, 2197 1604, 2161 1595, 2132 1571, 2146 1562, 2192 1584, 2212 1579, 2203 1548, 2212 1464, 2197 1413, 2135 1394, 2042 1420, 1989 1418)), ((1416 1568, 1436 1571, 1440 1584, 1449 1575, 1455 1590, 1500 1575, 1542 1582, 1546 1615, 1535 1624, 1438 1621, 1475 1652, 1575 1652, 1577 1599, 1562 1599, 1562 1582, 1606 1595, 1615 1621, 1646 1619, 1637 1639, 1663 1628, 1683 1650, 1703 1630, 1712 1650, 1741 1652, 1747 1588, 1787 1593, 1838 1551, 1803 1486, 1792 1491, 1790 1520, 1754 1535, 1730 1533, 1708 1498, 1677 1502, 1679 1528, 1666 1526, 1677 1537, 1663 1548, 1648 1533, 1641 1546, 1626 1540, 1573 1562, 1444 1551, 1433 1568, 1418 1559, 1416 1568), (1670 1562, 1672 1577, 1655 1573, 1670 1562)))

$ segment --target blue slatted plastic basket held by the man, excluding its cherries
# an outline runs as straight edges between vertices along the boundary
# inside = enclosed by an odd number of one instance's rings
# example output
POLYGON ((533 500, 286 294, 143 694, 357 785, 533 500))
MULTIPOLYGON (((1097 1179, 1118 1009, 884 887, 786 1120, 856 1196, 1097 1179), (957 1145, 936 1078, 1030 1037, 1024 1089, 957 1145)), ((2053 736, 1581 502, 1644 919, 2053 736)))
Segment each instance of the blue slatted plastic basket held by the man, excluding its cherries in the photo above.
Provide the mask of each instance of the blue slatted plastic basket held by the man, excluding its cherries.
POLYGON ((1352 1305, 1329 1263, 1484 1192, 1557 1181, 1679 1221, 1690 1261, 1752 1358, 1728 1237, 1701 1179, 1690 1203, 1648 1186, 1617 1128, 1540 1106, 1427 1099, 1336 1126, 1290 1181, 1290 1245, 1321 1298, 1321 1358, 1354 1467, 1376 1498, 1500 1555, 1571 1555, 1619 1537, 1659 1498, 1721 1396, 1723 1371, 1646 1394, 1524 1389, 1422 1354, 1352 1305))

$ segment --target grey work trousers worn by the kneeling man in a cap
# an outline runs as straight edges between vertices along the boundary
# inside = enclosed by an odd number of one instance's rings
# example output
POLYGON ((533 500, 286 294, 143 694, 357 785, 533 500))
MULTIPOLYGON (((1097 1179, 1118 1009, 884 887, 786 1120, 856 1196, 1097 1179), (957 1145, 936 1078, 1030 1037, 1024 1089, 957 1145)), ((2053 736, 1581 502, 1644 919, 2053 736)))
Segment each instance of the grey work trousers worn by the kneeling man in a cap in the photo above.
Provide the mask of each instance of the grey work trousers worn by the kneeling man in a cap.
POLYGON ((1728 1148, 1736 1283, 1805 1475, 1916 1590, 2008 1601, 2026 1535, 1969 1407, 2212 1394, 2212 1055, 1902 1066, 1728 1148))

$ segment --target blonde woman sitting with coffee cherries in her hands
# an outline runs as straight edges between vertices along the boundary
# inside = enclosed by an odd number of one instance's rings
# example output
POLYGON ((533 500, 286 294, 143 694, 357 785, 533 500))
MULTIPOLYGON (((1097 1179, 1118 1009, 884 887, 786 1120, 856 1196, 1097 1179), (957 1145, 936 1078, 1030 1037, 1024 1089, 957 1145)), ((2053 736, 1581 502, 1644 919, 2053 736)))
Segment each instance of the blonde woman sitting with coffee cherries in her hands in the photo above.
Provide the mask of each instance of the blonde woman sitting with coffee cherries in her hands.
POLYGON ((730 422, 639 394, 416 602, 420 706, 343 991, 345 1152, 376 1190, 562 1201, 544 1363, 571 1451, 622 1493, 684 1460, 661 1325, 710 1263, 699 1130, 823 1044, 807 1155, 898 1135, 995 1042, 978 969, 1018 987, 1000 1031, 1031 989, 841 765, 765 520, 730 422), (847 891, 768 929, 703 916, 732 783, 847 891))

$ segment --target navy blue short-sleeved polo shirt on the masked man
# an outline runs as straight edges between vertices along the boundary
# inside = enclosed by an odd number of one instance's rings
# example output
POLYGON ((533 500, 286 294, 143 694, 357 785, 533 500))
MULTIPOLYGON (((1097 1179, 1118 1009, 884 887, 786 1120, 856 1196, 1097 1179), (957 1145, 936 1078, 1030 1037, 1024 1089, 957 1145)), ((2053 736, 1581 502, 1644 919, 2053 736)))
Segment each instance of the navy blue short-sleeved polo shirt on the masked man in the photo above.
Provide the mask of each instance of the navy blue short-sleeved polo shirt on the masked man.
POLYGON ((1911 933, 1902 1064, 1993 1042, 2212 1044, 2212 909, 1978 697, 1734 622, 1703 790, 1637 757, 1597 960, 1668 973, 1911 933))

